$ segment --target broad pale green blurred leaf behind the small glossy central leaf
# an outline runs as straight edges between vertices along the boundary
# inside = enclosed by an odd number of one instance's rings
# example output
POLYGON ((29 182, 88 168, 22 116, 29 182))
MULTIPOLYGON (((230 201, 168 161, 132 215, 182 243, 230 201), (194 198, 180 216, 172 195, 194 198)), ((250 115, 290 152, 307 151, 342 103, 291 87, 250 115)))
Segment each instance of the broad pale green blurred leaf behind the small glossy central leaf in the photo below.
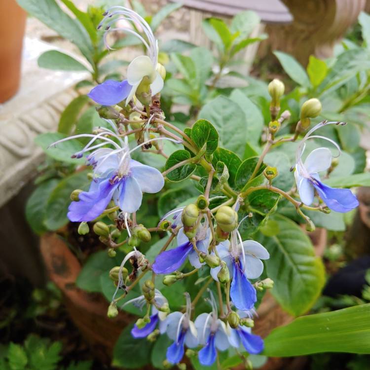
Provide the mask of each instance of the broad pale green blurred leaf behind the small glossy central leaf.
POLYGON ((220 135, 220 146, 242 156, 247 141, 246 117, 238 104, 218 96, 199 112, 199 118, 212 122, 220 135))

